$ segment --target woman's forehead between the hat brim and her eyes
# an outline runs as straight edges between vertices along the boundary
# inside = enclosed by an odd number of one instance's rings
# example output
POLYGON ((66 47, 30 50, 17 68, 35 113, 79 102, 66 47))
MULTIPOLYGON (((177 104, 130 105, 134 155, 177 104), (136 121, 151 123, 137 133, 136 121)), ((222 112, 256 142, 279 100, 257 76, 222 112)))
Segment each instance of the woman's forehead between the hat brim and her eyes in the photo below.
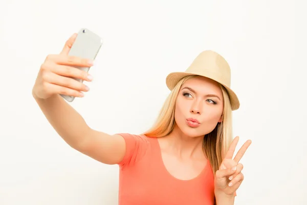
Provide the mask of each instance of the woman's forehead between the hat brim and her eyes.
POLYGON ((194 77, 185 81, 181 86, 181 89, 184 87, 189 87, 200 94, 216 94, 219 96, 222 96, 223 94, 216 81, 203 76, 194 77))

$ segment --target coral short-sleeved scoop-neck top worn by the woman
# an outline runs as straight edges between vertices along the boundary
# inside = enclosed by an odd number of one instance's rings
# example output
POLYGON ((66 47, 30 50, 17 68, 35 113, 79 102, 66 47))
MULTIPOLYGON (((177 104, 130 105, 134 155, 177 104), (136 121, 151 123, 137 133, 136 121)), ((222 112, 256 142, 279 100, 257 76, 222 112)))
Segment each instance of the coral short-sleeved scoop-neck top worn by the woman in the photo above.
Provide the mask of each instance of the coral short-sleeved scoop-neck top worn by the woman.
POLYGON ((164 167, 156 137, 120 135, 126 141, 126 154, 119 163, 119 205, 214 204, 211 166, 191 180, 177 179, 164 167))

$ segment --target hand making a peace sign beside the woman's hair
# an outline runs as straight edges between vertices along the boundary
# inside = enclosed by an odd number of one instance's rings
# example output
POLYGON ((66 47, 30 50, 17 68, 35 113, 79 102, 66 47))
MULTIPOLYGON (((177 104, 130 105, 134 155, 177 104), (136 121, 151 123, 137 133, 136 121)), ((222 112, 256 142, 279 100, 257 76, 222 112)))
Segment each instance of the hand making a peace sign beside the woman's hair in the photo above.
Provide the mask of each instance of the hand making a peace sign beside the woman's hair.
POLYGON ((220 169, 216 171, 214 178, 215 193, 224 193, 226 195, 233 196, 235 191, 241 185, 244 176, 242 174, 243 165, 238 163, 243 157, 247 148, 251 145, 252 141, 247 140, 245 144, 239 149, 234 159, 233 153, 237 146, 239 137, 235 137, 231 142, 231 145, 226 153, 224 160, 220 166, 220 169))

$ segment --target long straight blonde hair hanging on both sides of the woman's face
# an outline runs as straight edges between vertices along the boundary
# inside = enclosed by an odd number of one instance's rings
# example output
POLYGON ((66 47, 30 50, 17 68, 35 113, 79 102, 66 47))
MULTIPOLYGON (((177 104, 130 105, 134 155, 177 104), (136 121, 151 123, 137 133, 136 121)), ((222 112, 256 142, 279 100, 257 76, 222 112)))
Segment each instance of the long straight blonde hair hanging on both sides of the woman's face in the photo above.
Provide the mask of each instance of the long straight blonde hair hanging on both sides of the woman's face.
MULTIPOLYGON (((164 137, 170 134, 175 126, 175 105, 179 90, 185 81, 197 75, 186 76, 179 81, 176 87, 166 98, 165 103, 159 113, 156 123, 145 133, 148 137, 164 137)), ((232 111, 230 100, 226 89, 220 85, 224 97, 224 111, 222 122, 218 122, 212 132, 204 136, 203 150, 210 161, 213 175, 220 168, 225 154, 232 141, 232 111)))

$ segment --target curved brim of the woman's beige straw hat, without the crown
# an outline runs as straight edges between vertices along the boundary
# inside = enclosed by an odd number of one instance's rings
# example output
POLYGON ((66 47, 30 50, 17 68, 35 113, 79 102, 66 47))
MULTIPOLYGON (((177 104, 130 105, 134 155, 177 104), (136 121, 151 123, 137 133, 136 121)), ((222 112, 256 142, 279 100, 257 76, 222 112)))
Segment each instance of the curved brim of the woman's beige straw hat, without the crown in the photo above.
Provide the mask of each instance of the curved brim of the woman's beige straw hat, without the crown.
MULTIPOLYGON (((189 76, 189 75, 202 76, 202 75, 199 75, 199 74, 189 73, 189 72, 172 72, 172 73, 168 74, 167 77, 166 77, 166 86, 168 87, 169 90, 172 90, 183 77, 186 77, 186 76, 189 76)), ((207 77, 207 76, 204 76, 204 77, 207 77)), ((210 78, 210 77, 207 77, 207 78, 210 78)), ((210 79, 212 79, 212 78, 210 78, 210 79)), ((212 79, 212 80, 214 80, 214 79, 212 79)), ((214 80, 214 81, 216 81, 216 80, 214 80)), ((217 83, 224 86, 224 88, 227 90, 229 100, 230 100, 231 110, 232 111, 237 110, 240 107, 240 103, 239 103, 239 99, 238 99, 237 95, 228 86, 226 86, 226 85, 224 85, 220 82, 217 82, 217 83)))

